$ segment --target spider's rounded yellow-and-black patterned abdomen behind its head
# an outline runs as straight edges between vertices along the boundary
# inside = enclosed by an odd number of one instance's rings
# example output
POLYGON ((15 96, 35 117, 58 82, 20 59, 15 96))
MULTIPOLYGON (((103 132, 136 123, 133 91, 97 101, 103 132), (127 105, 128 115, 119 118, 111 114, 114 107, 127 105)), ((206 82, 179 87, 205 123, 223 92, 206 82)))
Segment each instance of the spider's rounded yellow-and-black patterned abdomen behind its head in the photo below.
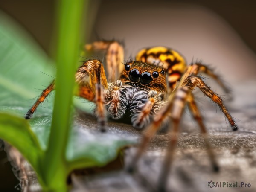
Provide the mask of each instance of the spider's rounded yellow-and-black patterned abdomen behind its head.
POLYGON ((186 69, 186 61, 180 53, 166 47, 151 47, 140 50, 136 61, 163 66, 169 87, 173 90, 186 69))

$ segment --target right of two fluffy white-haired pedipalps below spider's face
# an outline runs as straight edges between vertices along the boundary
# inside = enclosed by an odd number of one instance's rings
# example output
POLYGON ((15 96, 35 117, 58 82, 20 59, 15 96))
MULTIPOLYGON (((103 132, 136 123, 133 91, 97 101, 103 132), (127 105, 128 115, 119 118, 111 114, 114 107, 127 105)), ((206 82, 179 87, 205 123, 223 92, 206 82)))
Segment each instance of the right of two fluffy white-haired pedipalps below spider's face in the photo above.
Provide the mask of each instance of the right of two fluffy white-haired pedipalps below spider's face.
POLYGON ((135 128, 144 128, 152 120, 152 117, 166 103, 162 101, 162 94, 151 90, 149 93, 143 90, 135 92, 130 104, 131 122, 135 128))

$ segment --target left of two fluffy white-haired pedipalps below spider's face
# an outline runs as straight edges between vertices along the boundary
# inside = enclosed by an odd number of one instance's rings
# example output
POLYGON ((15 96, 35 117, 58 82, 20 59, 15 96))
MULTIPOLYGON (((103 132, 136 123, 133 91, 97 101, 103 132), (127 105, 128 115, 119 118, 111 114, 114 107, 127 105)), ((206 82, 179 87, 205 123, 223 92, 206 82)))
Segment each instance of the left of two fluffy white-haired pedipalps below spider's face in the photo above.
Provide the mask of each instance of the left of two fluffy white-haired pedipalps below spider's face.
POLYGON ((126 106, 128 105, 127 99, 122 94, 122 90, 125 87, 123 87, 120 80, 109 83, 108 87, 108 89, 105 89, 108 113, 112 119, 120 119, 124 116, 126 106))

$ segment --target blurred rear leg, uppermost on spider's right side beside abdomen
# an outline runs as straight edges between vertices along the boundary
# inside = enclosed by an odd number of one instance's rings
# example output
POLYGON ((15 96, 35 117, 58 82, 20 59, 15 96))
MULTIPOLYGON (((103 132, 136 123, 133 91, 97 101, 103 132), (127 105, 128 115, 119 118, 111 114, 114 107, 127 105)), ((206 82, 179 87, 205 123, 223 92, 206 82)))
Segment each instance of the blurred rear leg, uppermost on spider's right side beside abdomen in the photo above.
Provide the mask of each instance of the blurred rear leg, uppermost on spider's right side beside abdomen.
POLYGON ((207 74, 208 76, 212 77, 221 86, 221 88, 231 97, 230 89, 222 82, 221 78, 218 75, 216 75, 211 68, 201 63, 195 63, 193 65, 197 66, 193 71, 194 76, 201 72, 207 74))

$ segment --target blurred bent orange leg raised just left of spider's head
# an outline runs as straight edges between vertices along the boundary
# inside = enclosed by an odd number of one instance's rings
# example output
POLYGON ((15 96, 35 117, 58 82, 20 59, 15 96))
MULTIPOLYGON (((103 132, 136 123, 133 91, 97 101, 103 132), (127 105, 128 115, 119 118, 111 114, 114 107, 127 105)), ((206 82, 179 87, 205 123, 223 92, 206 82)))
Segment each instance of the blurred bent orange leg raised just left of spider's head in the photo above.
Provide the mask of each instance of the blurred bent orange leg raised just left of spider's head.
POLYGON ((111 82, 118 79, 119 73, 122 72, 124 65, 124 49, 117 41, 94 41, 92 44, 86 44, 87 51, 106 50, 108 80, 111 82))

